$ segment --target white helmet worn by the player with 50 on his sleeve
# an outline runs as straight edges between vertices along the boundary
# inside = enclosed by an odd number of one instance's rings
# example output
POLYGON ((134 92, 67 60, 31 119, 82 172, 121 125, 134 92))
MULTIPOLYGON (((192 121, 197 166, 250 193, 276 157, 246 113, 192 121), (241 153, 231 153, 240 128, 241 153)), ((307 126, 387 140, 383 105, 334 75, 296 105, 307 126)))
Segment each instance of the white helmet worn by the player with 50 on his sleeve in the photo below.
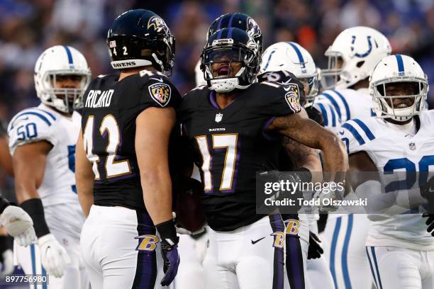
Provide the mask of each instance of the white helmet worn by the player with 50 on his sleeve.
POLYGON ((74 47, 56 45, 40 55, 35 64, 35 89, 42 103, 64 113, 82 108, 82 97, 91 78, 87 61, 74 47), (81 77, 79 88, 56 88, 58 76, 81 77))

